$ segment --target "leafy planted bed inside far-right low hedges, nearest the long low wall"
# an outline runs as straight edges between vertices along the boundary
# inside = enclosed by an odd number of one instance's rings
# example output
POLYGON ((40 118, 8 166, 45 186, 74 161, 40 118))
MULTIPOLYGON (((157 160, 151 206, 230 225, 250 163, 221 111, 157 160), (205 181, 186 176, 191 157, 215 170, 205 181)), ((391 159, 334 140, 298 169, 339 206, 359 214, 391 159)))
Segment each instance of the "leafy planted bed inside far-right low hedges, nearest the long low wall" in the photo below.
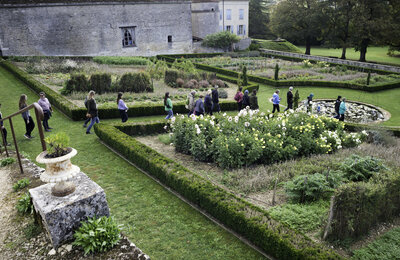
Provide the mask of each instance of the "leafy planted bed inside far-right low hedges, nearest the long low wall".
MULTIPOLYGON (((323 80, 341 81, 356 84, 366 84, 368 73, 347 69, 345 66, 330 66, 326 62, 311 63, 287 61, 264 57, 232 58, 216 56, 211 58, 197 58, 196 62, 239 71, 241 65, 247 67, 250 75, 273 79, 275 67, 279 66, 279 80, 323 80)), ((400 75, 378 75, 371 73, 370 85, 389 83, 400 80, 400 75)))

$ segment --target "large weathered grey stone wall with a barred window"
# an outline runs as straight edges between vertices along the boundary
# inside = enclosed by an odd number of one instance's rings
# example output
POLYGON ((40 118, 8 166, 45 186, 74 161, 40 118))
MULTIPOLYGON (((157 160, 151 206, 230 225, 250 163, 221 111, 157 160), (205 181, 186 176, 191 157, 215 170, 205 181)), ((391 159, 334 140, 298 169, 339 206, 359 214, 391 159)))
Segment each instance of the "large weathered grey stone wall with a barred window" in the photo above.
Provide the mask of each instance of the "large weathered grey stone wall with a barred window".
POLYGON ((4 56, 153 56, 192 51, 190 1, 0 4, 4 56), (122 46, 134 27, 136 47, 122 46), (168 42, 172 36, 172 42, 168 42))

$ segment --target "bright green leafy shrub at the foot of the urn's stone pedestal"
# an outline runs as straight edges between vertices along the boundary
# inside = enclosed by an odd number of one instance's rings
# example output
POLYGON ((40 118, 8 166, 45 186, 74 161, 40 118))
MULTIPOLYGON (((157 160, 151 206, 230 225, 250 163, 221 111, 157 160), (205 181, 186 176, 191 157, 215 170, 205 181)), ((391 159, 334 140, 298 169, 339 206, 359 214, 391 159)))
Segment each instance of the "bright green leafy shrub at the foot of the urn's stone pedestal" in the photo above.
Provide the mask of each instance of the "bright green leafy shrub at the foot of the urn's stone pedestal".
POLYGON ((119 225, 113 217, 88 218, 74 234, 74 245, 80 246, 85 255, 105 252, 113 248, 121 239, 119 225))

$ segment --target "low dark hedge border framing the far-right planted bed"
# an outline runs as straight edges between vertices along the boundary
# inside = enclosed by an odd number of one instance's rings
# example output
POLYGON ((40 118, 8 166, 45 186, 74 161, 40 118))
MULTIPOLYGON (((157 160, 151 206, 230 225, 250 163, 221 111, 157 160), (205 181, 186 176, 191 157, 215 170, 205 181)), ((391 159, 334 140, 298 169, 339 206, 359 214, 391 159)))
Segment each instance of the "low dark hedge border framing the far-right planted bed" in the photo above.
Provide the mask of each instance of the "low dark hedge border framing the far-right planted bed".
MULTIPOLYGON (((213 55, 209 56, 201 56, 200 54, 197 54, 196 56, 189 56, 189 55, 158 55, 158 59, 164 59, 167 62, 174 62, 175 59, 179 58, 202 58, 202 57, 213 57, 221 55, 221 53, 213 53, 213 55)), ((265 55, 264 55, 265 56, 265 55)), ((275 56, 274 56, 275 57, 275 56)), ((288 59, 286 56, 279 56, 279 58, 285 57, 288 59)), ((300 58, 293 58, 290 57, 291 60, 298 60, 298 61, 303 61, 303 59, 300 58)), ((219 75, 226 75, 232 78, 238 78, 238 72, 232 71, 232 70, 227 70, 219 67, 214 67, 206 64, 201 64, 201 63, 193 63, 196 68, 206 70, 206 71, 211 71, 218 73, 219 75)), ((334 64, 337 65, 337 64, 334 64)), ((354 69, 360 69, 359 67, 354 67, 354 66, 348 66, 344 65, 350 68, 354 69)), ((365 71, 365 70, 364 70, 365 71)), ((368 69, 367 71, 371 72, 376 72, 379 74, 395 74, 394 72, 389 72, 389 71, 381 71, 381 70, 373 70, 373 69, 368 69)), ((367 92, 375 92, 375 91, 381 91, 381 90, 387 90, 387 89, 393 89, 393 88, 400 88, 400 81, 395 81, 392 83, 387 83, 387 84, 377 84, 373 86, 368 86, 368 85, 361 85, 361 84, 355 84, 355 83, 346 83, 346 82, 341 82, 341 81, 314 81, 314 80, 273 80, 265 77, 259 77, 259 76, 254 76, 254 75, 248 75, 247 76, 249 81, 257 82, 257 83, 262 83, 266 85, 271 85, 274 87, 287 87, 287 86, 297 86, 297 87, 334 87, 334 88, 345 88, 345 89, 355 89, 355 90, 363 90, 367 92)))

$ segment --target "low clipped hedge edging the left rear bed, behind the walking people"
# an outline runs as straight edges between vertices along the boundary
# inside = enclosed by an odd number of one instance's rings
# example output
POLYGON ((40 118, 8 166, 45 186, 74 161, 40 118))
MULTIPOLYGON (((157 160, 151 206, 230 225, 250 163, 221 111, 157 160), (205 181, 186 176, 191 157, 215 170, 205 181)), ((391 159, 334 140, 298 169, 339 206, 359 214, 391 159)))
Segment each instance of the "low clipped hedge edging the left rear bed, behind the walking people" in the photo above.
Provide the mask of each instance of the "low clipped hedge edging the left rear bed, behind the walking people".
MULTIPOLYGON (((43 91, 44 93, 46 93, 46 97, 49 99, 50 103, 53 104, 58 109, 60 109, 64 114, 66 114, 72 120, 79 121, 85 118, 87 112, 86 108, 78 107, 77 105, 73 104, 64 96, 58 94, 51 88, 40 83, 39 81, 31 77, 28 73, 21 70, 11 62, 0 59, 0 66, 11 72, 14 76, 16 76, 22 82, 24 82, 34 92, 39 93, 43 91)), ((251 85, 248 87, 254 88, 255 86, 251 85)), ((220 106, 221 110, 224 111, 233 111, 237 109, 235 101, 221 101, 220 106)), ((185 104, 183 102, 174 104, 174 112, 187 113, 185 104)), ((129 106, 128 110, 128 116, 131 117, 153 116, 153 115, 164 115, 164 114, 165 114, 165 109, 164 105, 162 104, 133 105, 129 106)), ((116 107, 115 108, 100 107, 99 117, 102 119, 119 118, 120 114, 116 107)))

